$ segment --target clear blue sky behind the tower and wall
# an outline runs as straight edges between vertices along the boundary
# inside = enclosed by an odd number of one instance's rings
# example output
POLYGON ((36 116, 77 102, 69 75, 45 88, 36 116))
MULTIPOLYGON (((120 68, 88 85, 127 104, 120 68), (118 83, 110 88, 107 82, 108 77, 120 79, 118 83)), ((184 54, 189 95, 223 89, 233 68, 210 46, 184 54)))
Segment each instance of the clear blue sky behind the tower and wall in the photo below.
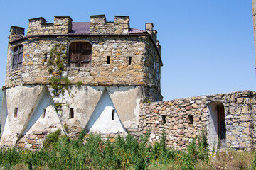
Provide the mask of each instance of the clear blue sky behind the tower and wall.
POLYGON ((4 86, 11 26, 27 28, 28 19, 90 15, 130 16, 130 26, 144 30, 154 23, 162 47, 161 92, 164 100, 256 91, 252 1, 139 0, 60 1, 0 0, 0 86, 4 86))

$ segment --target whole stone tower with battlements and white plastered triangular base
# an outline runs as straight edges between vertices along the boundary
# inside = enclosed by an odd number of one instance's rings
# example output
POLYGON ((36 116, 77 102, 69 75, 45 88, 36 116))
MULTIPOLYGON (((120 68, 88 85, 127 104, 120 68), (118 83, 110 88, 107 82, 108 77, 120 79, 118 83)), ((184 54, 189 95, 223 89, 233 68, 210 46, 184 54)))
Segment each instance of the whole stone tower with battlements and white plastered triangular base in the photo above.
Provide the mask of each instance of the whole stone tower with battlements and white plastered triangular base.
POLYGON ((139 105, 161 101, 161 47, 152 23, 129 16, 69 16, 11 26, 1 115, 1 145, 36 148, 60 128, 114 136, 139 132, 139 105))

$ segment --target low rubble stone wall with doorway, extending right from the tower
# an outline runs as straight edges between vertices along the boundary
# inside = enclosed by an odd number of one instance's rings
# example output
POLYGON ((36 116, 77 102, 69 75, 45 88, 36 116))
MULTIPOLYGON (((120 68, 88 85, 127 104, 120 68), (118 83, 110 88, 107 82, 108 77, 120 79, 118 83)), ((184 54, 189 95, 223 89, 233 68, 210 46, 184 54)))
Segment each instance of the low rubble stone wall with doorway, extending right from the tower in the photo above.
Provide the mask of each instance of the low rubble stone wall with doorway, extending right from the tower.
MULTIPOLYGON (((151 130, 152 142, 159 141, 161 132, 165 130, 169 147, 186 149, 202 130, 207 132, 208 141, 213 138, 209 135, 212 131, 209 106, 218 101, 225 108, 226 146, 250 150, 255 148, 255 97, 255 92, 238 91, 145 103, 141 106, 140 128, 143 133, 151 130)), ((210 147, 213 146, 214 143, 210 143, 210 147)))

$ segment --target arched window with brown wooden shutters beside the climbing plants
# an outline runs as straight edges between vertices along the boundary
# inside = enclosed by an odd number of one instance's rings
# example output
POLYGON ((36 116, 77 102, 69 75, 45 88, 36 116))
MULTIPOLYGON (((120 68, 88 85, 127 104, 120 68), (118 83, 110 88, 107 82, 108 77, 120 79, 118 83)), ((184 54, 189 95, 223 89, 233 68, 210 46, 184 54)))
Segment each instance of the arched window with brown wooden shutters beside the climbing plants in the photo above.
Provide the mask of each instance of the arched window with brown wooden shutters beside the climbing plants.
POLYGON ((68 67, 90 67, 92 45, 89 42, 73 42, 69 47, 68 67))

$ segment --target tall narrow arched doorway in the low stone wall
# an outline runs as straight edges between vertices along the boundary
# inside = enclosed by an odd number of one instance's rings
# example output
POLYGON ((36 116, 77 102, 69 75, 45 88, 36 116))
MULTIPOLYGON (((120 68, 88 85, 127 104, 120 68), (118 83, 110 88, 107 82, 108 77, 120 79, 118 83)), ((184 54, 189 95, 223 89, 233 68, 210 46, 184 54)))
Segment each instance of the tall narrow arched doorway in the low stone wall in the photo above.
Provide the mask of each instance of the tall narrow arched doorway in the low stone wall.
POLYGON ((225 109, 220 101, 213 101, 209 105, 209 136, 208 142, 212 147, 225 148, 226 141, 226 125, 225 125, 225 109))

